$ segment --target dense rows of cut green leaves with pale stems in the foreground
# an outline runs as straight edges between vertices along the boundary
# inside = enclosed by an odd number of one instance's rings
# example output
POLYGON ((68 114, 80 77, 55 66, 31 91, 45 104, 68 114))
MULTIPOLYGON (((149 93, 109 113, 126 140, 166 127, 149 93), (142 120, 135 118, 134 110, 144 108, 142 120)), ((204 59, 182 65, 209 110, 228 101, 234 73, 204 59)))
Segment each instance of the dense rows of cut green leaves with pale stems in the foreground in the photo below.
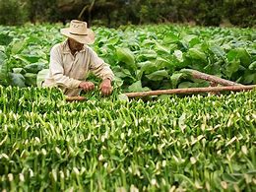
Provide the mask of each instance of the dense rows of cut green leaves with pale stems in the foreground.
POLYGON ((87 96, 0 86, 2 190, 256 190, 255 91, 87 96))

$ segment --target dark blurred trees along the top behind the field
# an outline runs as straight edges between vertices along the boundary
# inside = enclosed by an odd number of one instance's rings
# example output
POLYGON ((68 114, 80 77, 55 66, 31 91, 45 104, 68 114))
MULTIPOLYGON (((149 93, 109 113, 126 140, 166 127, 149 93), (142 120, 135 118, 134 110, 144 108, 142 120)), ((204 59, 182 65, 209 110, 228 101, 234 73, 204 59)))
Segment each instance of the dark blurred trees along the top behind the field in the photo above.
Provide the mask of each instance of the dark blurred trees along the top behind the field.
POLYGON ((7 25, 29 21, 66 23, 72 19, 107 27, 166 22, 256 25, 255 0, 1 0, 0 5, 0 24, 7 25))

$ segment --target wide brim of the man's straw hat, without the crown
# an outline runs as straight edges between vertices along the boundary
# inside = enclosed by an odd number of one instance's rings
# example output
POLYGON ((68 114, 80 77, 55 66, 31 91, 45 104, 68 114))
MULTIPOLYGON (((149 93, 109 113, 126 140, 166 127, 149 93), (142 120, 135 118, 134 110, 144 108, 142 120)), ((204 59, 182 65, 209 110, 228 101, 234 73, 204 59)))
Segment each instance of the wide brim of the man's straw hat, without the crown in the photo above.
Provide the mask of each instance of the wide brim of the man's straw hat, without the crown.
POLYGON ((60 33, 62 33, 63 35, 70 37, 82 44, 93 44, 96 39, 95 32, 93 32, 91 29, 87 29, 87 32, 88 32, 87 34, 72 34, 70 33, 69 28, 60 30, 60 33))

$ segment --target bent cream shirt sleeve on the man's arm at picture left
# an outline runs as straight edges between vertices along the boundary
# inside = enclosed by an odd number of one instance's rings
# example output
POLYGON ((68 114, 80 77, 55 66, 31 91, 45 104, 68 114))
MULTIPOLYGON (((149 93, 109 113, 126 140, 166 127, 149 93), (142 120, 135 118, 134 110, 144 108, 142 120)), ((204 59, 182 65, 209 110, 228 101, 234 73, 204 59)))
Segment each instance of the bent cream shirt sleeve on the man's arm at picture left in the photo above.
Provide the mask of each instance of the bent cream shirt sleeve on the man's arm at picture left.
POLYGON ((81 81, 69 78, 68 76, 64 75, 63 62, 59 47, 52 47, 50 51, 49 69, 57 86, 68 89, 79 88, 81 81))

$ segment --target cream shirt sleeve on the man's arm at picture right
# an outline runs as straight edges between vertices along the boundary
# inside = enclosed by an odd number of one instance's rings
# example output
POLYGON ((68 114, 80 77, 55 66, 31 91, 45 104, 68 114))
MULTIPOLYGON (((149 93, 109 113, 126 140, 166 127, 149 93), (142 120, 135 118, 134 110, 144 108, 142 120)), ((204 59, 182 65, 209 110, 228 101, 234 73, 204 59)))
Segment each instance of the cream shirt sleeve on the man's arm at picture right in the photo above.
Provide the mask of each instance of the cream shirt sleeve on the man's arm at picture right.
POLYGON ((90 59, 90 71, 92 71, 100 79, 109 79, 113 81, 114 74, 110 69, 109 65, 106 64, 101 58, 99 58, 96 52, 90 48, 91 59, 90 59))

